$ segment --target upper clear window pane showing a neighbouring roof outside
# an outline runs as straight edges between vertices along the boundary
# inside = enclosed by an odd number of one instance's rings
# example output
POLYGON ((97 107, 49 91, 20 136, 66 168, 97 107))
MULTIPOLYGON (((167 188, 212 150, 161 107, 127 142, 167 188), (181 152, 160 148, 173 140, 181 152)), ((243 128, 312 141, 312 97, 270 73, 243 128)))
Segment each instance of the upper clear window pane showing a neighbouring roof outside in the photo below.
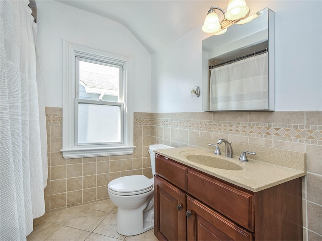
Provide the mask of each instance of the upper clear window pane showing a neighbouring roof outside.
POLYGON ((79 99, 118 102, 120 68, 79 60, 79 99))

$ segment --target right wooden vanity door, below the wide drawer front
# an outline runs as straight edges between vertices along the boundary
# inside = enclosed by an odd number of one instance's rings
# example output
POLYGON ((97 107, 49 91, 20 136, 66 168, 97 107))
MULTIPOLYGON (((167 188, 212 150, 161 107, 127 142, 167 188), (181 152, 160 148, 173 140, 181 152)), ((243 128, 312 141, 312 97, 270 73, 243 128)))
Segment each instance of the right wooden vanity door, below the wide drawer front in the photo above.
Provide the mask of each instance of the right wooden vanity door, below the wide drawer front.
POLYGON ((187 240, 253 240, 253 234, 187 196, 187 240))

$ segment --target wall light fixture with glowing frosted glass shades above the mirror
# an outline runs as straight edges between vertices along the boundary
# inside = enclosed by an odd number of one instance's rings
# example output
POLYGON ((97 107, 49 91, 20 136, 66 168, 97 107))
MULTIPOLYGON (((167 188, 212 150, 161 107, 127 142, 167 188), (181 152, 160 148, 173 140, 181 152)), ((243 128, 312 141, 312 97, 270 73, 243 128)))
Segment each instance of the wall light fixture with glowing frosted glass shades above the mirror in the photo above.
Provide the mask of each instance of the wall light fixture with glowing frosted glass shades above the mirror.
POLYGON ((227 14, 219 7, 210 7, 205 18, 202 31, 206 33, 213 33, 214 35, 223 34, 227 28, 239 20, 247 17, 249 8, 246 6, 245 0, 230 0, 228 3, 227 14), (223 13, 223 20, 219 23, 219 17, 216 9, 223 13))

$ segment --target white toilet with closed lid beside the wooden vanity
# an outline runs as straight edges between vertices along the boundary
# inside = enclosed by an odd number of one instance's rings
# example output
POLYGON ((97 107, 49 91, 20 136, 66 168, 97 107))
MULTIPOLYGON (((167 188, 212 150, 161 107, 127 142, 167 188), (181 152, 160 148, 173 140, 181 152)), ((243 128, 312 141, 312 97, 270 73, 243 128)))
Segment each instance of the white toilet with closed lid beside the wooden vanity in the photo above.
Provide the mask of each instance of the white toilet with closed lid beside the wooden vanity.
MULTIPOLYGON (((152 174, 155 174, 156 149, 173 148, 163 144, 149 147, 152 174)), ((154 228, 153 178, 143 175, 124 176, 109 182, 107 191, 110 200, 117 206, 116 231, 124 236, 133 236, 154 228)))

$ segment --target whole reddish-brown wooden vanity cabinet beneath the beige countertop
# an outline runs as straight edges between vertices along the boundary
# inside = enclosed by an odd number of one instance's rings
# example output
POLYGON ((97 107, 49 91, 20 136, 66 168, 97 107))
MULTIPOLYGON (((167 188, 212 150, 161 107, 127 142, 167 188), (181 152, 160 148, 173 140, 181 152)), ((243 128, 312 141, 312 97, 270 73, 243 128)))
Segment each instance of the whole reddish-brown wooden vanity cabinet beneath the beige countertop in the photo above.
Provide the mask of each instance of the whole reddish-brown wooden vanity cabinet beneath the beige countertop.
POLYGON ((158 240, 302 240, 301 178, 251 192, 156 155, 158 240))

